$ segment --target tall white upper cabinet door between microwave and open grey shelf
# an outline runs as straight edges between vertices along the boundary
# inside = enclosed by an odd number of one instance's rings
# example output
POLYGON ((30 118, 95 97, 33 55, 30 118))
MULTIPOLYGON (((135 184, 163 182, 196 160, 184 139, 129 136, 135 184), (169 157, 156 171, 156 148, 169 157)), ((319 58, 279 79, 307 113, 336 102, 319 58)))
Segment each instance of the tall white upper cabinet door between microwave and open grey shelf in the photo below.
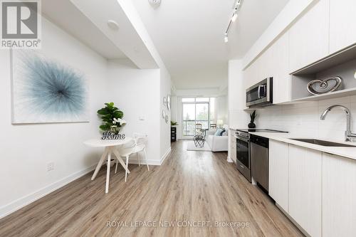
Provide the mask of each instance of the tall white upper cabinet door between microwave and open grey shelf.
POLYGON ((288 102, 291 98, 289 75, 289 33, 286 32, 271 46, 271 76, 273 77, 273 104, 288 102))

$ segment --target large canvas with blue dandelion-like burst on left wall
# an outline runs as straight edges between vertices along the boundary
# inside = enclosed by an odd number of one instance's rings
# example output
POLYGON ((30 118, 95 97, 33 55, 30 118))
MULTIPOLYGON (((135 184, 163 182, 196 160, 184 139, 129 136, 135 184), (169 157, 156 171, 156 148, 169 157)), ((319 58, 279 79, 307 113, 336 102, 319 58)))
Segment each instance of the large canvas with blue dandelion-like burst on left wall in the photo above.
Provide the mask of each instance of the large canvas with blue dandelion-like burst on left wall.
POLYGON ((36 51, 12 52, 13 123, 88 122, 83 73, 36 51))

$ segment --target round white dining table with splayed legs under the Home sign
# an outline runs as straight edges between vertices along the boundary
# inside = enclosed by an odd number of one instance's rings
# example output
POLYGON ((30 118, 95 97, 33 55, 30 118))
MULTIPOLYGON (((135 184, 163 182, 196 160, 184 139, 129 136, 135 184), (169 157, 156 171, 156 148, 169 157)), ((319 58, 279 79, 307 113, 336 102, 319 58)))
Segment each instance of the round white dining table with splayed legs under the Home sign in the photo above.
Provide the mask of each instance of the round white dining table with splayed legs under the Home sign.
POLYGON ((101 156, 101 158, 98 162, 98 165, 95 168, 93 177, 91 177, 91 180, 95 179, 100 168, 103 165, 103 162, 105 161, 105 159, 108 156, 108 164, 107 164, 107 169, 106 169, 105 194, 107 194, 109 191, 111 154, 115 154, 115 157, 120 162, 122 167, 124 167, 124 169, 127 170, 127 173, 130 174, 130 171, 126 168, 125 162, 122 160, 122 158, 120 157, 120 153, 117 150, 117 146, 126 144, 127 142, 130 142, 130 141, 132 141, 132 137, 125 137, 125 139, 113 139, 113 140, 103 140, 101 138, 96 138, 96 139, 89 139, 89 140, 83 142, 88 147, 104 147, 105 148, 104 153, 101 156))

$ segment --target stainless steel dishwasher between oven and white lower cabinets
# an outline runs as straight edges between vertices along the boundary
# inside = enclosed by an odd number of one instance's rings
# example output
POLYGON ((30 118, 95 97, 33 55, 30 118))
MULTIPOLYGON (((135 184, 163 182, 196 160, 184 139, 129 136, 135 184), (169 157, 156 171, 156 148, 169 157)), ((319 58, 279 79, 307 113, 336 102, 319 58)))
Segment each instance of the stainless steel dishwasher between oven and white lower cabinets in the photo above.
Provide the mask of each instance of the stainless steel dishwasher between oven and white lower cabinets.
POLYGON ((252 178, 268 192, 268 138, 251 135, 252 178))

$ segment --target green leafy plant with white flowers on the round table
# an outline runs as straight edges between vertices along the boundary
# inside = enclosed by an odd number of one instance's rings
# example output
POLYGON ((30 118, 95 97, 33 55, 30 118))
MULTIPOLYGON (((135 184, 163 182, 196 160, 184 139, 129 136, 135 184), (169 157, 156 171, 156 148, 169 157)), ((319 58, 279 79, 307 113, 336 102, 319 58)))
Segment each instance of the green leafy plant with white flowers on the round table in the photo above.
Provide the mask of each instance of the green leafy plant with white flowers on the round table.
POLYGON ((105 103, 105 107, 98 110, 98 114, 103 120, 103 124, 99 126, 102 131, 110 131, 118 134, 120 127, 126 124, 126 121, 122 120, 124 113, 115 107, 113 102, 105 103))

